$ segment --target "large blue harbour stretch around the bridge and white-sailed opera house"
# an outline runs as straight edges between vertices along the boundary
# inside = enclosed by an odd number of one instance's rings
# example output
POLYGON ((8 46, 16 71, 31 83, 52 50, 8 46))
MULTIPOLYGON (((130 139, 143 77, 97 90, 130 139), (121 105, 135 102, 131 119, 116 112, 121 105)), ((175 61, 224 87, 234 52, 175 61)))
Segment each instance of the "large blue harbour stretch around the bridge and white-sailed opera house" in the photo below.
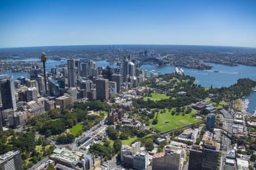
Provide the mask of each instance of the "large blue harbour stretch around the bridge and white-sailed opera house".
MULTIPOLYGON (((235 84, 240 78, 250 78, 256 80, 256 67, 253 66, 225 66, 214 63, 207 63, 213 66, 212 70, 197 70, 188 69, 185 67, 178 67, 183 69, 185 75, 195 76, 196 83, 204 87, 228 87, 235 84), (214 72, 218 71, 218 72, 214 72)), ((142 65, 144 70, 155 70, 155 73, 160 72, 161 74, 172 73, 175 66, 159 67, 155 65, 142 65)), ((150 73, 148 73, 149 75, 150 73)))

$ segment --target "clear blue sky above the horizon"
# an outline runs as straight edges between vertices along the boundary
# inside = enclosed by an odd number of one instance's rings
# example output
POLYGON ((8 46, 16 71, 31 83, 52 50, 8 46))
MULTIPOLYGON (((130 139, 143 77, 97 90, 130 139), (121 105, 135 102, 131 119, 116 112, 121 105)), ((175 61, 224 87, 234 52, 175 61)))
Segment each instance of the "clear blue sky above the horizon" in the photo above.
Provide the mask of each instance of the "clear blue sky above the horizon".
POLYGON ((256 1, 0 1, 0 46, 256 47, 256 1))

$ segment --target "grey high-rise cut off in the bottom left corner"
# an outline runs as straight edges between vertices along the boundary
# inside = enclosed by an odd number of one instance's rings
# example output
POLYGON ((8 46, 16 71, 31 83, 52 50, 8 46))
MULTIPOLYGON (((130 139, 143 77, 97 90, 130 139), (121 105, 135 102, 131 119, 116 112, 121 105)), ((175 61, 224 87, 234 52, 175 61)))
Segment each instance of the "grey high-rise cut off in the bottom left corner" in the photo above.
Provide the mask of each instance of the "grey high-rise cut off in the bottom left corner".
POLYGON ((10 151, 0 156, 0 169, 22 170, 22 159, 19 151, 10 151))

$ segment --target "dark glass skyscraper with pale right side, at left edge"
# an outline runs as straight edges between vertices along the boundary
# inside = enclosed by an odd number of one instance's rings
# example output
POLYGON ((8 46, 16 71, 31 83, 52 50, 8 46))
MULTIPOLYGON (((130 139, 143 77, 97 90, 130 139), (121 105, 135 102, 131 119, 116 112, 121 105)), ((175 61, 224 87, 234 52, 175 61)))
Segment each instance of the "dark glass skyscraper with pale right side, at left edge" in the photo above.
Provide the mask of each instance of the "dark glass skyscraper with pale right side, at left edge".
POLYGON ((3 109, 13 108, 16 110, 17 106, 12 75, 0 75, 0 91, 3 109))

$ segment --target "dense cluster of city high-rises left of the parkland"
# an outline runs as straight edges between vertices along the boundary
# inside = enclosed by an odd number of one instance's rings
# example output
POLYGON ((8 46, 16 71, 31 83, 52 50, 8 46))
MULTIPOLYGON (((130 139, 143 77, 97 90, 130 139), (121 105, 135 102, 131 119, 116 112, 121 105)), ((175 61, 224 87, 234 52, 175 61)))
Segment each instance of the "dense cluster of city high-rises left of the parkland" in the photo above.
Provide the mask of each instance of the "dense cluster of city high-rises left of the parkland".
MULTIPOLYGON (((46 75, 39 63, 30 72, 30 78, 17 80, 0 75, 0 130, 6 126, 19 128, 28 118, 53 108, 65 108, 80 99, 108 101, 147 77, 147 71, 139 69, 130 56, 125 56, 117 67, 96 67, 92 59, 67 59, 67 66, 55 66, 46 75)), ((126 97, 129 95, 122 99, 126 97)), ((130 107, 129 102, 121 101, 119 108, 121 105, 130 107)), ((115 113, 109 121, 117 121, 115 113)))

